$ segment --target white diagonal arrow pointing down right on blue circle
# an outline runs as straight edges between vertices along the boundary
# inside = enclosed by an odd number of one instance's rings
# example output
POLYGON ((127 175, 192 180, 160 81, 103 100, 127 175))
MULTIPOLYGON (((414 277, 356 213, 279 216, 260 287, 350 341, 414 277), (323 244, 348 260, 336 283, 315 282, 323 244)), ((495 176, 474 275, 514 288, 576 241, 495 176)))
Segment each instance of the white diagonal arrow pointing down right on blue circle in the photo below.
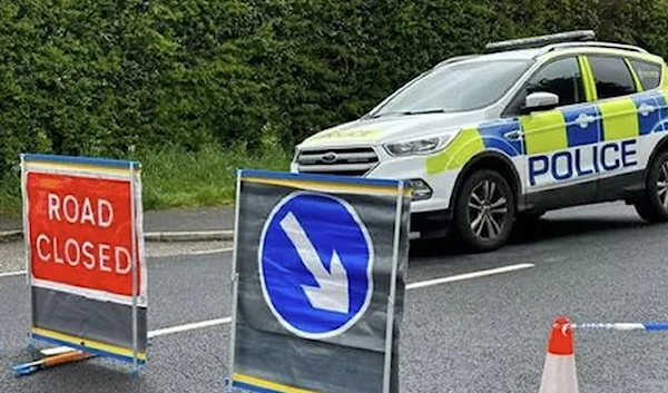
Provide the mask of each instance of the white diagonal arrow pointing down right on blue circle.
POLYGON ((302 285, 311 305, 315 308, 347 314, 350 310, 347 273, 336 250, 332 253, 330 273, 292 212, 281 220, 281 228, 294 244, 304 266, 317 282, 317 287, 302 285))

